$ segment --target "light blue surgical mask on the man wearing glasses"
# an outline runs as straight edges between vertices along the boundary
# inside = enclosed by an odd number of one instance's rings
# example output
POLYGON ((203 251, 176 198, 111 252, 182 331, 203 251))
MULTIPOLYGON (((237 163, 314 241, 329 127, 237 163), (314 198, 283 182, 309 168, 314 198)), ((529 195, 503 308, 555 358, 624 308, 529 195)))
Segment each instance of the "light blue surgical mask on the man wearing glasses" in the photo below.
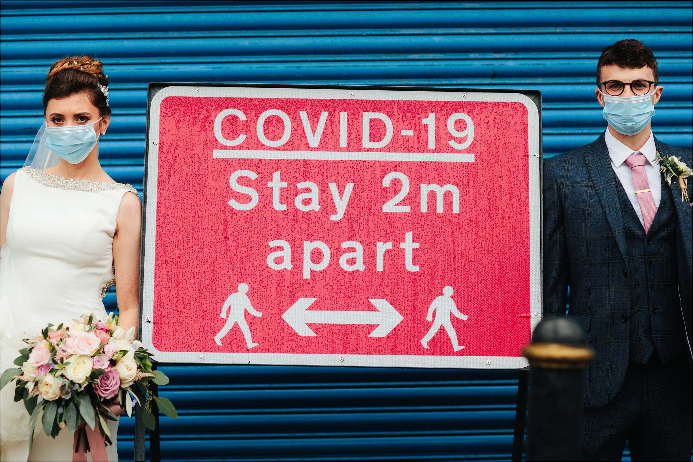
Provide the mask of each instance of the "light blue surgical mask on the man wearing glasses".
MULTIPOLYGON (((601 90, 599 91, 601 93, 601 90)), ((647 127, 654 115, 652 94, 639 96, 604 96, 604 112, 609 125, 624 135, 634 135, 647 127)))

